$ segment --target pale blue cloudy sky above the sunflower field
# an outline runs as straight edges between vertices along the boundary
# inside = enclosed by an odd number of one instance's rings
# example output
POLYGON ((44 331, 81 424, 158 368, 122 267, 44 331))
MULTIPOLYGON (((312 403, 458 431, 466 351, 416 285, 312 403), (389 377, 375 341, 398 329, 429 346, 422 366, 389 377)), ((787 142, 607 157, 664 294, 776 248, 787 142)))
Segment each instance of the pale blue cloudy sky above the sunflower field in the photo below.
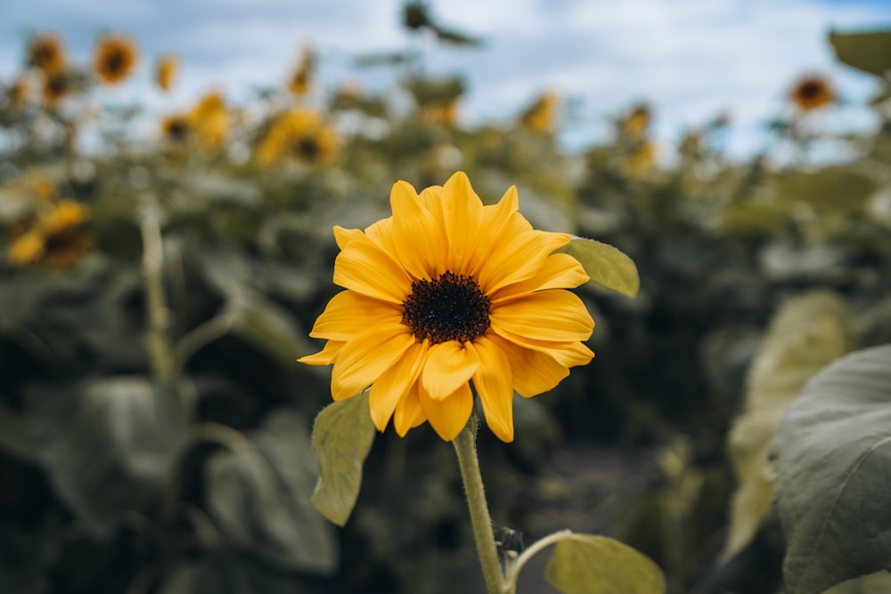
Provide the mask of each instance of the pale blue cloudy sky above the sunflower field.
POLYGON ((867 129, 863 103, 876 81, 838 64, 827 34, 891 28, 891 0, 429 0, 434 17, 483 38, 478 49, 438 45, 400 26, 402 0, 27 0, 0 5, 0 80, 22 62, 35 31, 54 30, 87 61, 103 31, 135 37, 142 59, 119 98, 159 111, 191 104, 213 88, 235 99, 283 84, 301 48, 320 55, 323 85, 346 79, 392 86, 395 74, 356 69, 361 53, 413 49, 430 74, 460 73, 467 126, 516 118, 550 90, 573 105, 568 148, 609 136, 610 118, 647 102, 654 134, 676 142, 718 115, 732 122, 726 150, 764 148, 764 122, 788 109, 798 77, 829 77, 845 101, 824 117, 831 129, 867 129), (175 92, 151 85, 164 52, 183 61, 175 92))

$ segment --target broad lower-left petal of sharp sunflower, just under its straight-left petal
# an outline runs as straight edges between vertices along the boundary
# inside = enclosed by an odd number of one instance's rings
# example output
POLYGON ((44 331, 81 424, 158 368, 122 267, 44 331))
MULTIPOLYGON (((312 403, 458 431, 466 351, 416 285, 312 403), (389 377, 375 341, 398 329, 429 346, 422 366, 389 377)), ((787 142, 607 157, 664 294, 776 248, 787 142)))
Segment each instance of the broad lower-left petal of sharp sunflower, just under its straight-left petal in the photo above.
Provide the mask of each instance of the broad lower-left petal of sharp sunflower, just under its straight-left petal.
POLYGON ((331 396, 343 400, 371 386, 414 342, 402 324, 365 330, 340 349, 331 371, 331 396))

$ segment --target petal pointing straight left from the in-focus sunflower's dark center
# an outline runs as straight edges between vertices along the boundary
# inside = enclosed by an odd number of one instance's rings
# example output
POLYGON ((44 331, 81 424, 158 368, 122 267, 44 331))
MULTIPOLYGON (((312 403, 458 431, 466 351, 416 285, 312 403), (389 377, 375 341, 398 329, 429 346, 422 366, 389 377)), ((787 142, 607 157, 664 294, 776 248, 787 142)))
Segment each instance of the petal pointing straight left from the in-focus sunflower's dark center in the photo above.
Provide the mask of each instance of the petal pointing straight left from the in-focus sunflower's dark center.
POLYGON ((356 291, 340 291, 325 306, 309 336, 350 340, 370 326, 399 323, 402 309, 388 301, 365 297, 356 291))

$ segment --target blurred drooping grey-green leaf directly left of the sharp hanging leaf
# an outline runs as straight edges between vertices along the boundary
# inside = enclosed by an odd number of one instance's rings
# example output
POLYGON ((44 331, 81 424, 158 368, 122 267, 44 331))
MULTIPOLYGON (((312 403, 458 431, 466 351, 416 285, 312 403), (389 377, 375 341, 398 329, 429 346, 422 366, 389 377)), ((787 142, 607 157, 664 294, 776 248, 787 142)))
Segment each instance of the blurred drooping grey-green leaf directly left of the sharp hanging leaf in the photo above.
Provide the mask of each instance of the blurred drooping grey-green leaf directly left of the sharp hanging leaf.
MULTIPOLYGON (((331 572, 337 545, 310 505, 316 472, 305 419, 275 411, 206 468, 210 515, 246 555, 282 570, 331 572)), ((240 434, 234 434, 240 435, 240 434)))

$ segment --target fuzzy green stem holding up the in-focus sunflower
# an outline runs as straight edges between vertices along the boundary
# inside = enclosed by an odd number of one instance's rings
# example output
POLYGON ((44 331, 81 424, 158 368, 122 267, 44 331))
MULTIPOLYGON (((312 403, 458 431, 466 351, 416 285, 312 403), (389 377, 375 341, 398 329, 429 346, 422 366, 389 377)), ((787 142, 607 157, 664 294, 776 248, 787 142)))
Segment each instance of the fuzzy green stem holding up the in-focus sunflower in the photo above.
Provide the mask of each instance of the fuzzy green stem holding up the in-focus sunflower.
POLYGON ((458 454, 467 507, 470 509, 470 524, 473 526, 473 538, 477 541, 479 564, 483 567, 486 590, 489 594, 504 594, 504 575, 498 560, 498 549, 495 549, 495 533, 492 531, 492 520, 486 506, 483 477, 479 474, 476 440, 477 417, 473 415, 467 427, 462 429, 452 443, 458 454))

